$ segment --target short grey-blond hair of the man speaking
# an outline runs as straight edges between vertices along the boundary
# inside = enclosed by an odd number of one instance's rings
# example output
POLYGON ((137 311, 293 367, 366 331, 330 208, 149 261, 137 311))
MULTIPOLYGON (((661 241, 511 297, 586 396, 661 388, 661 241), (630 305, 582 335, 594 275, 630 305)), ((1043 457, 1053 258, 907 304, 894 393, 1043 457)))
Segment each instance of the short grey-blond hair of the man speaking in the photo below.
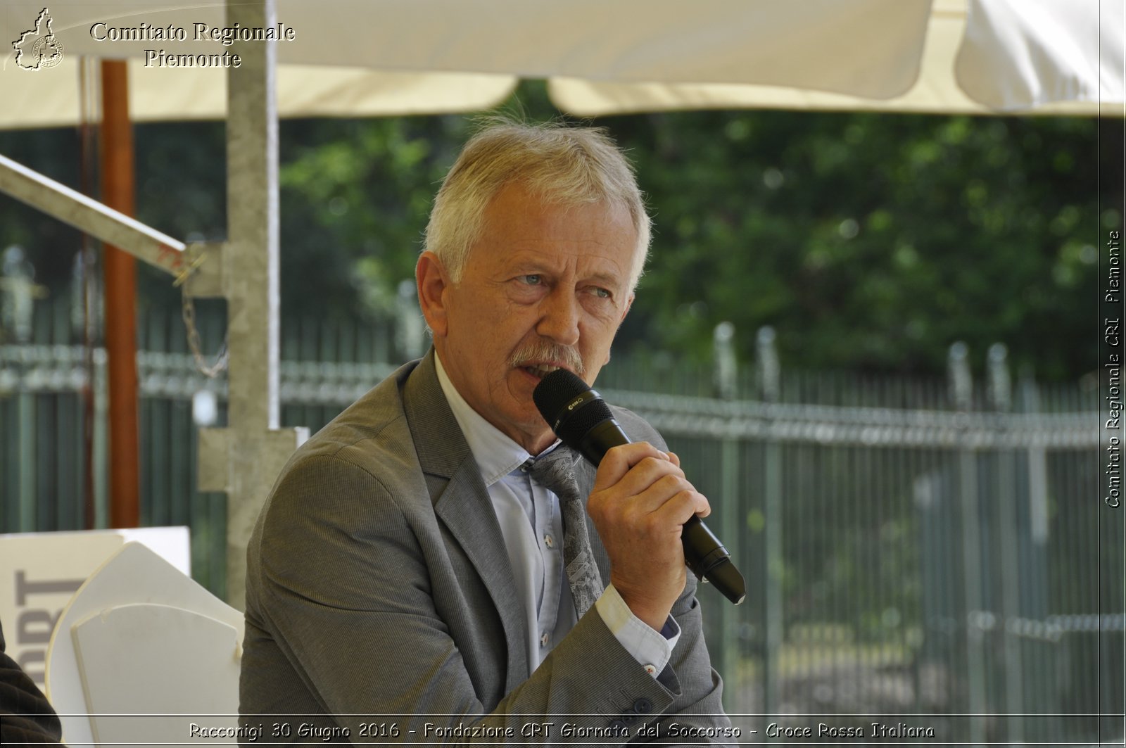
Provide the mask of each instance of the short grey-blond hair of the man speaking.
POLYGON ((493 122, 470 139, 441 184, 426 228, 425 249, 458 283, 470 248, 484 230, 489 203, 511 182, 545 202, 578 206, 605 203, 629 212, 637 233, 629 291, 649 255, 651 220, 633 166, 602 127, 556 123, 493 122))

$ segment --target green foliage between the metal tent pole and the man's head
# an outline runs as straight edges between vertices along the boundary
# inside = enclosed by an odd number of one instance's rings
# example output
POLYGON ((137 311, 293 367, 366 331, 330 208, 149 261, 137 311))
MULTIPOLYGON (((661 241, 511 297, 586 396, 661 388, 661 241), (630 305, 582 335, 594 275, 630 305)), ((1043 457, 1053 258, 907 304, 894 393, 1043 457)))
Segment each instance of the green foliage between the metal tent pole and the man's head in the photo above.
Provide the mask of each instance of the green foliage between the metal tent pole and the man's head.
POLYGON ((392 311, 399 283, 414 277, 430 201, 465 128, 463 117, 284 123, 287 312, 392 311))

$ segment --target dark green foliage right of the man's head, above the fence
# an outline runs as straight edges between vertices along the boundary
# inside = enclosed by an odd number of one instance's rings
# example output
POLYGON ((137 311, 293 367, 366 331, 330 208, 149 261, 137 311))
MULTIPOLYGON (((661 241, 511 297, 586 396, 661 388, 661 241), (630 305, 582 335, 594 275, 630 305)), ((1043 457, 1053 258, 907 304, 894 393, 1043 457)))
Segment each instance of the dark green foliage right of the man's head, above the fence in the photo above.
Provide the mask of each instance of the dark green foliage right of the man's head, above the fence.
POLYGON ((1093 122, 623 124, 660 230, 635 309, 662 344, 703 356, 729 320, 744 357, 774 326, 789 366, 941 372, 959 339, 978 355, 1003 341, 1052 379, 1093 366, 1093 122))

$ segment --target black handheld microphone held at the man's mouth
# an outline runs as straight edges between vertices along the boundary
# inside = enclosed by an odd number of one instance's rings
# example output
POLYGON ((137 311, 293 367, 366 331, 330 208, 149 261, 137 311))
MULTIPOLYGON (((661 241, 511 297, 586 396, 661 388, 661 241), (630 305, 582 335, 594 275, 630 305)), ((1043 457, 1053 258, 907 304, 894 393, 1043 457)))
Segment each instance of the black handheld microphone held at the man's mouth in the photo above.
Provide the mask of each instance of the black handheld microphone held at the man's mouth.
MULTIPOLYGON (((602 397, 565 368, 545 376, 531 399, 555 435, 595 465, 611 447, 629 444, 602 397)), ((727 549, 699 517, 694 515, 685 523, 680 540, 685 562, 696 578, 712 582, 735 605, 742 603, 747 596, 743 576, 731 562, 727 549)))

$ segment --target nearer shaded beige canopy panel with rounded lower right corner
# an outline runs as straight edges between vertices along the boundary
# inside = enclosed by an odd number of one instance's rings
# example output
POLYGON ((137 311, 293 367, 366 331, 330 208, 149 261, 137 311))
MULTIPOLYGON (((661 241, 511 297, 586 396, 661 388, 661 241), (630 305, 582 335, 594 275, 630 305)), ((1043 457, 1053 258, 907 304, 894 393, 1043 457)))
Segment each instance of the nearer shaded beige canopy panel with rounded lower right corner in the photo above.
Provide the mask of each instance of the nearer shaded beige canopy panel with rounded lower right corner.
MULTIPOLYGON (((42 8, 43 0, 9 0, 5 38, 17 38, 42 8)), ((929 0, 278 0, 278 62, 886 98, 918 73, 929 9, 929 0)), ((220 0, 60 0, 50 14, 66 54, 157 65, 162 59, 148 50, 229 50, 209 38, 226 26, 220 0)))

